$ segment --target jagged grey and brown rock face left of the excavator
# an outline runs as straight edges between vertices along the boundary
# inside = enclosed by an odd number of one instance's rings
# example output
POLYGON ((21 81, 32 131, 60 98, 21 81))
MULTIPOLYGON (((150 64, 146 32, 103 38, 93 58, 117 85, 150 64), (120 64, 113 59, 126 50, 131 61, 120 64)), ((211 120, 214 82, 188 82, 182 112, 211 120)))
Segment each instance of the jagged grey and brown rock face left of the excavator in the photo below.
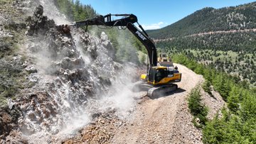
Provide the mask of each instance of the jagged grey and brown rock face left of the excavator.
POLYGON ((113 94, 110 87, 122 71, 105 33, 100 38, 82 29, 62 33, 43 16, 41 5, 26 18, 26 28, 23 67, 31 88, 0 113, 1 143, 51 143, 89 123, 90 111, 97 109, 90 99, 113 94))

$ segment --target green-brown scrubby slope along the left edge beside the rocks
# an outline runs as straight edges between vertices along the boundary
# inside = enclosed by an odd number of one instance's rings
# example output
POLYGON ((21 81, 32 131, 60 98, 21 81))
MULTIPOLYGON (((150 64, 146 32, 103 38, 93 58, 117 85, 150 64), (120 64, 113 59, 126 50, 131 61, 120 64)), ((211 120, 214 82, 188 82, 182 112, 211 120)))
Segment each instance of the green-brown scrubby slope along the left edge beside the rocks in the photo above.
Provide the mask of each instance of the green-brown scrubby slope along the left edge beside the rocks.
POLYGON ((20 1, 0 1, 0 107, 7 99, 16 99, 20 90, 29 87, 23 70, 26 57, 19 45, 23 43, 26 25, 24 16, 16 9, 20 1), (4 17, 6 16, 6 17, 4 17))

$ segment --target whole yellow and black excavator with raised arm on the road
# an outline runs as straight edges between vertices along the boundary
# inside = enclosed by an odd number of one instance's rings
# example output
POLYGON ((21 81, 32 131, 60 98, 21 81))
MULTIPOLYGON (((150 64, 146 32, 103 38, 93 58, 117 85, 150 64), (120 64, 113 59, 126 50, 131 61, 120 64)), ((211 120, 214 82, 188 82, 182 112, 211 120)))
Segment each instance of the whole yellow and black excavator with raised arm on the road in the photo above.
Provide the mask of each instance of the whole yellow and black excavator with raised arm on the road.
POLYGON ((174 82, 181 82, 181 73, 177 69, 171 69, 169 66, 161 65, 157 60, 156 47, 153 40, 144 31, 144 28, 138 23, 137 16, 133 14, 107 14, 106 16, 96 16, 85 21, 74 22, 70 26, 76 28, 81 26, 121 26, 128 28, 136 38, 145 46, 148 52, 149 65, 146 74, 141 75, 143 82, 136 87, 146 86, 148 96, 152 99, 173 92, 178 88, 174 82), (114 18, 117 18, 114 20, 114 18), (120 18, 121 17, 121 18, 120 18), (139 28, 134 25, 137 23, 139 28))

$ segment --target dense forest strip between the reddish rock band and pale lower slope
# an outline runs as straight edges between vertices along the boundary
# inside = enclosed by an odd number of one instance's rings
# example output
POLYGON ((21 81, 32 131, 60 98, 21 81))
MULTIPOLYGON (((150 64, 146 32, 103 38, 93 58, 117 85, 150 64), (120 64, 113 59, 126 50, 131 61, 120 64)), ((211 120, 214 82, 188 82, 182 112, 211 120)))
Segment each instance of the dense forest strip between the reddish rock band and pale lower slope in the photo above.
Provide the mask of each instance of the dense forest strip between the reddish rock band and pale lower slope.
POLYGON ((176 47, 200 50, 232 50, 234 52, 255 52, 256 32, 234 32, 215 33, 207 35, 193 35, 187 37, 171 38, 170 40, 159 41, 156 45, 159 48, 176 47))

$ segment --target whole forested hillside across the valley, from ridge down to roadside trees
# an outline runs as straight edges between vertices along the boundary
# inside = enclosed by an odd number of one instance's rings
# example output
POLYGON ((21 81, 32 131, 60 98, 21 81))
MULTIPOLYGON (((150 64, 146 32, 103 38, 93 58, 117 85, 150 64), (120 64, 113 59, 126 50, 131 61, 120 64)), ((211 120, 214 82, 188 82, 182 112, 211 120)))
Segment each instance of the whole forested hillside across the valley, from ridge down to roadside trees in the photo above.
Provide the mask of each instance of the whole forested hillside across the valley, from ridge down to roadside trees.
POLYGON ((159 30, 148 31, 156 47, 183 52, 198 62, 256 81, 256 2, 222 9, 205 8, 159 30))

